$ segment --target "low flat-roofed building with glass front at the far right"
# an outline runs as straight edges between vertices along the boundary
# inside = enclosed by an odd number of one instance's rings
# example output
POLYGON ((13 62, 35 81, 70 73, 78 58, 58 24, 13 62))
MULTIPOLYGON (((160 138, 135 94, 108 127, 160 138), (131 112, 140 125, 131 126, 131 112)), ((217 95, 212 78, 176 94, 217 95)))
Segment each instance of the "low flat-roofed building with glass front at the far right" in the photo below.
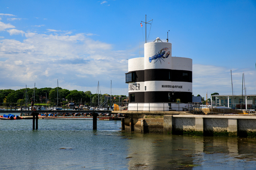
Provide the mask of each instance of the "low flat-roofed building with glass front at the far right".
POLYGON ((256 109, 256 95, 211 95, 211 100, 212 106, 225 106, 246 110, 256 109))

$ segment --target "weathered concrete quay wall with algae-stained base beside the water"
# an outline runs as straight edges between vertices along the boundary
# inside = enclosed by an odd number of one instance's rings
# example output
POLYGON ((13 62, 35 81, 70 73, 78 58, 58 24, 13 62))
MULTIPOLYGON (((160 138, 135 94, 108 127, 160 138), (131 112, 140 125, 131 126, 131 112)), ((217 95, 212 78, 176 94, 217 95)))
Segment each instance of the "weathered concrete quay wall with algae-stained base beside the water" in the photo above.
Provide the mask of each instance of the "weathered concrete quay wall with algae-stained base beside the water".
POLYGON ((256 137, 256 116, 164 115, 125 118, 122 129, 140 133, 256 137))

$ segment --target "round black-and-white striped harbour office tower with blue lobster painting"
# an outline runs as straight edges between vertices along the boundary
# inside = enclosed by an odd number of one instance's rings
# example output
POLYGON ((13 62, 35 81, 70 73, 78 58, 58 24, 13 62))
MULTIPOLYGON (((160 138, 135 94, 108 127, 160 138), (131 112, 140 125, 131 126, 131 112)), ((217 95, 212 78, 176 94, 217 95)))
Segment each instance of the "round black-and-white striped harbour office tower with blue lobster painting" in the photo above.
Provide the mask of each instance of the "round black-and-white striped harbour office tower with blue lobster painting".
POLYGON ((172 56, 172 44, 157 37, 144 44, 144 57, 128 60, 125 83, 129 111, 177 110, 192 103, 192 59, 172 56))

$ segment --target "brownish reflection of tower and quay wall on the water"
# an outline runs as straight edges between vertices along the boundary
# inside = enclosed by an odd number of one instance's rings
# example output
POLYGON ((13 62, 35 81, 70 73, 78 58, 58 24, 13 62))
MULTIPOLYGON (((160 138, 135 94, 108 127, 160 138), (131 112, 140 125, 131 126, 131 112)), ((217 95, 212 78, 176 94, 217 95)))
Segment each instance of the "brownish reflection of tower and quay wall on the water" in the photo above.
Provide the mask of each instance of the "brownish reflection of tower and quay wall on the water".
POLYGON ((129 169, 255 169, 255 139, 125 135, 129 169))

